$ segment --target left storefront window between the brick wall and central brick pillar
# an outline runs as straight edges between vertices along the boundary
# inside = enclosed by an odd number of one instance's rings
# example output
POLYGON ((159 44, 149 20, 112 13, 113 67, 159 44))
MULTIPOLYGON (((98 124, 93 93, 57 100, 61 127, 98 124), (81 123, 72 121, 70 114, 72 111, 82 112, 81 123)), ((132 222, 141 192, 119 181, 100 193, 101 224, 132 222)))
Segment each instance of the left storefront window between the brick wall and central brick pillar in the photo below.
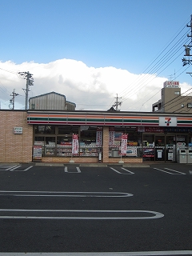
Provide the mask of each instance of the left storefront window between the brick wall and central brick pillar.
POLYGON ((102 148, 102 133, 98 136, 98 130, 97 126, 34 126, 34 145, 42 146, 42 156, 69 157, 72 135, 78 134, 79 152, 76 156, 97 157, 98 149, 102 148))

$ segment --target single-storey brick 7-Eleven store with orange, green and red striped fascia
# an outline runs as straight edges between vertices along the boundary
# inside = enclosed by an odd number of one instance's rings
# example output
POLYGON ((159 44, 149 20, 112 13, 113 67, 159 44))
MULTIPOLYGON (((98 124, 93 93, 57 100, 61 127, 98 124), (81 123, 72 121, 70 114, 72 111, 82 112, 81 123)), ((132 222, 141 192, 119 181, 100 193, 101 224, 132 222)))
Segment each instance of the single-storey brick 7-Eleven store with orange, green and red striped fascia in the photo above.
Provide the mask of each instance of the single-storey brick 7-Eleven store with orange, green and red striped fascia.
POLYGON ((192 116, 0 110, 0 133, 0 162, 178 162, 180 152, 192 149, 192 116), (74 134, 78 147, 72 152, 74 134), (122 134, 126 154, 121 154, 122 134))

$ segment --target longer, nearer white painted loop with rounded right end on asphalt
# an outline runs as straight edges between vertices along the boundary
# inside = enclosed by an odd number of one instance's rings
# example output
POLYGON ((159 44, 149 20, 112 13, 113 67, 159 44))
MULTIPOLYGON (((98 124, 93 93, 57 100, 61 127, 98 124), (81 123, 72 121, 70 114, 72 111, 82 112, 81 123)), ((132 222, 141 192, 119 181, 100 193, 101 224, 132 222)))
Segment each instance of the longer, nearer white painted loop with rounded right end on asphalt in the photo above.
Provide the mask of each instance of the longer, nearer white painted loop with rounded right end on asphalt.
POLYGON ((164 214, 151 210, 26 210, 26 209, 0 209, 0 212, 21 213, 20 215, 3 215, 0 218, 17 218, 17 219, 151 219, 162 218, 164 214), (74 216, 29 216, 28 213, 72 213, 74 216), (82 216, 85 214, 85 216, 82 216), (87 216, 86 214, 89 214, 87 216), (100 214, 101 216, 98 216, 100 214), (90 216, 93 215, 93 216, 90 216), (95 215, 95 216, 94 216, 95 215), (104 216, 103 216, 104 215, 104 216), (111 216, 112 215, 112 216, 111 216), (114 216, 113 216, 114 215, 114 216), (127 216, 128 215, 128 216, 127 216), (135 216, 136 215, 136 216, 135 216), (143 215, 143 216, 142 216, 143 215))

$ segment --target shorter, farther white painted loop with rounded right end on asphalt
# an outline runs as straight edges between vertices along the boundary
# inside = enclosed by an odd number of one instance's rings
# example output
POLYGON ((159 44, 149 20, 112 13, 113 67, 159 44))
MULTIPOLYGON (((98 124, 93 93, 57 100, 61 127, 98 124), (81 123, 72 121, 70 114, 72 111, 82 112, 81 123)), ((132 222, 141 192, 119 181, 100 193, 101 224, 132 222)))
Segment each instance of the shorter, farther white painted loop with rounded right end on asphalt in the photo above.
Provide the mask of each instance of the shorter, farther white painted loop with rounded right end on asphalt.
POLYGON ((122 198, 132 197, 133 194, 122 192, 58 192, 58 191, 6 191, 0 190, 0 195, 15 197, 92 197, 92 198, 122 198))

